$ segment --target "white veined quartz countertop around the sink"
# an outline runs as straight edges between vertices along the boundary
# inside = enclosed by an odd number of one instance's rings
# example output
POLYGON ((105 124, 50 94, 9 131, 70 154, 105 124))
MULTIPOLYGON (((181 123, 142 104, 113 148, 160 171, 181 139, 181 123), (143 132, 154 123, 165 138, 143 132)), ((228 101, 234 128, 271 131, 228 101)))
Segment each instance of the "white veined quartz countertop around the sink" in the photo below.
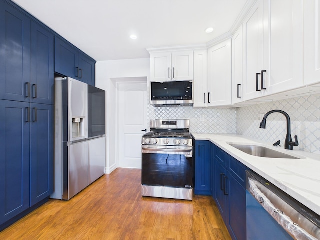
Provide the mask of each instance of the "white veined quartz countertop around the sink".
MULTIPOLYGON (((286 150, 241 135, 192 133, 195 140, 209 140, 303 205, 320 215, 320 155, 286 150), (228 143, 254 143, 301 159, 252 156, 228 143)), ((283 143, 284 144, 284 143, 283 143)), ((281 144, 282 145, 282 144, 281 144)), ((294 147, 293 147, 294 148, 294 147)))

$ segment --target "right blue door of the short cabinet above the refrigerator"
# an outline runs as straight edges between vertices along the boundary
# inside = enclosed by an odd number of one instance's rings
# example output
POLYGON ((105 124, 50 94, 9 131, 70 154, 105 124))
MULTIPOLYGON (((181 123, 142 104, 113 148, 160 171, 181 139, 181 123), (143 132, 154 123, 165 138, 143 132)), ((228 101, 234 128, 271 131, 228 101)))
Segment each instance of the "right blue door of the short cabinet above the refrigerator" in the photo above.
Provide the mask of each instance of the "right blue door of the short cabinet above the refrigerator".
POLYGON ((95 85, 95 61, 79 53, 79 80, 91 86, 95 85))

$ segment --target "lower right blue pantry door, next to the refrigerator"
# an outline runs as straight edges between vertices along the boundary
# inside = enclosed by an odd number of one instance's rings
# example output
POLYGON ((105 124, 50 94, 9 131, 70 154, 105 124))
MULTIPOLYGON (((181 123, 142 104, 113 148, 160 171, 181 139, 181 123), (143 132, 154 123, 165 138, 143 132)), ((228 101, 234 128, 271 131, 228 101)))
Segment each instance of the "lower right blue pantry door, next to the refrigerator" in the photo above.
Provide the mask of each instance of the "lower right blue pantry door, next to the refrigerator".
POLYGON ((30 206, 53 190, 53 105, 31 103, 30 206))

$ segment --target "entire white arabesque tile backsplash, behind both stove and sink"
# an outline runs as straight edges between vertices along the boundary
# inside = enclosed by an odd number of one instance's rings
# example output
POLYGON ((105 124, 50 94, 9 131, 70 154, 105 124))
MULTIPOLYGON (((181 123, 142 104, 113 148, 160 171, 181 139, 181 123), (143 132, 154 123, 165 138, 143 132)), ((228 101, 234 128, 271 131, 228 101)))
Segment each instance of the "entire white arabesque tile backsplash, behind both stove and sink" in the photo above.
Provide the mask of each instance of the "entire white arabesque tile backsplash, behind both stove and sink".
POLYGON ((320 154, 320 94, 260 103, 241 108, 153 107, 148 104, 147 119, 190 119, 190 131, 197 133, 241 134, 257 140, 284 144, 286 118, 272 113, 266 128, 259 128, 265 113, 283 110, 291 118, 291 136, 298 136, 300 149, 320 154))

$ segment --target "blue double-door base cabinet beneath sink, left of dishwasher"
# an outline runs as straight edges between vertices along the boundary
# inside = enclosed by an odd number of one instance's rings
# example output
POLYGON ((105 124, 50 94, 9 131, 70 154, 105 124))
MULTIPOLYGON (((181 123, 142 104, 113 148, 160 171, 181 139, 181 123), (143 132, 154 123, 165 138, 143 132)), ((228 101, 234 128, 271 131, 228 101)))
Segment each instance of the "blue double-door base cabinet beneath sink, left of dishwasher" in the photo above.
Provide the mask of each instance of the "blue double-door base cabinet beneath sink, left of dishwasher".
POLYGON ((246 239, 245 170, 242 163, 215 146, 213 198, 232 239, 246 239))

